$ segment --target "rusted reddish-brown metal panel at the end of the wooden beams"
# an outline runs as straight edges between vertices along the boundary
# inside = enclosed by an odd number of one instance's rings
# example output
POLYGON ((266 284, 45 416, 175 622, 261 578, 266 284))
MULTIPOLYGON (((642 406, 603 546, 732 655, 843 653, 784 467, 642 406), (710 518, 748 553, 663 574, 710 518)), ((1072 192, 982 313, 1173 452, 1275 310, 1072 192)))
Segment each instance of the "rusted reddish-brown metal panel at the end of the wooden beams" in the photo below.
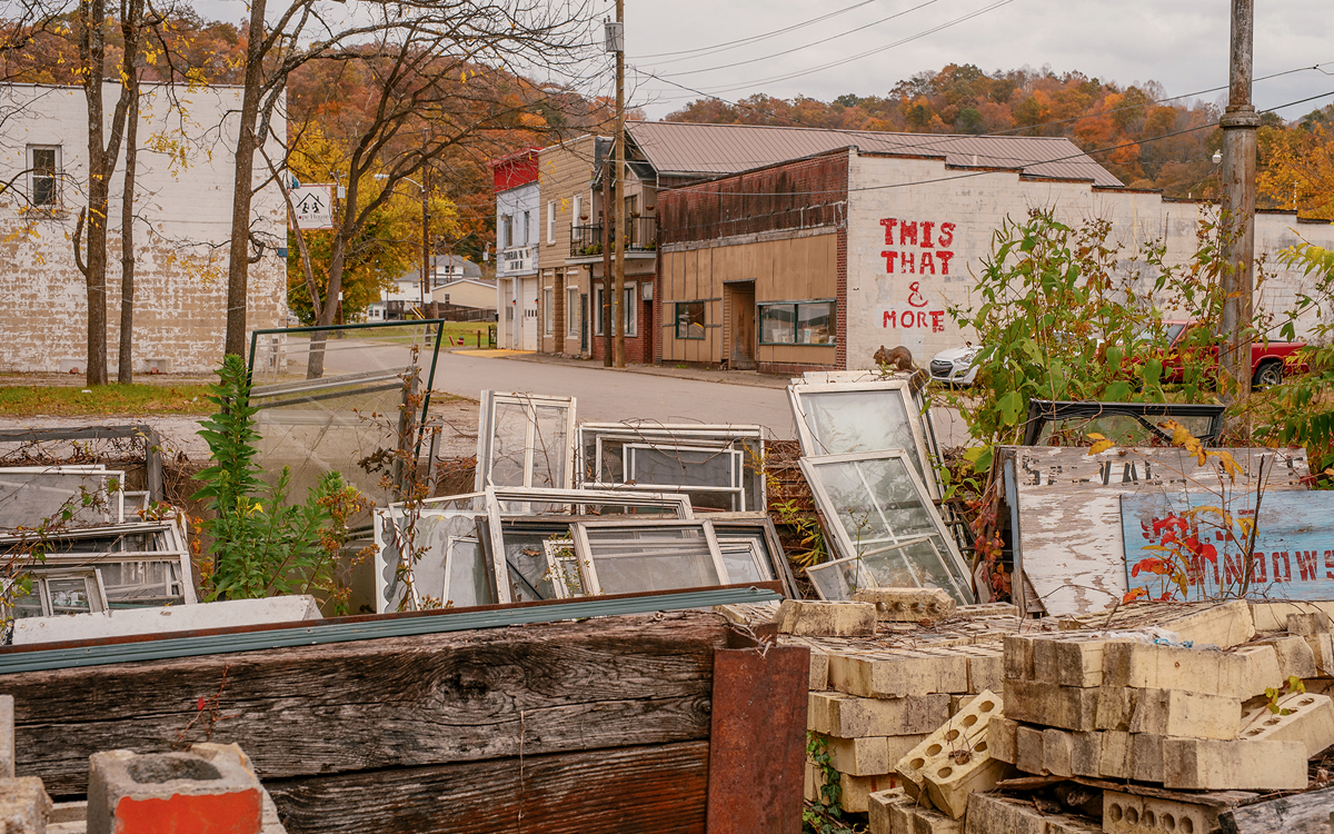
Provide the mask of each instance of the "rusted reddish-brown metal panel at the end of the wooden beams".
POLYGON ((714 650, 710 834, 800 834, 811 650, 714 650))

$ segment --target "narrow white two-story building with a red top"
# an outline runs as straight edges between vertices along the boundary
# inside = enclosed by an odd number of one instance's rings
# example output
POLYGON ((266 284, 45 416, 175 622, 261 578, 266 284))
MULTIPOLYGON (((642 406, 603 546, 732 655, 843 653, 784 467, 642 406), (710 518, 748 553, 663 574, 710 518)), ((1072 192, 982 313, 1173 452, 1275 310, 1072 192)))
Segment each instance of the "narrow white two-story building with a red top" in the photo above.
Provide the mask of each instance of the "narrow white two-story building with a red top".
POLYGON ((538 148, 490 163, 496 192, 496 344, 538 350, 538 148))

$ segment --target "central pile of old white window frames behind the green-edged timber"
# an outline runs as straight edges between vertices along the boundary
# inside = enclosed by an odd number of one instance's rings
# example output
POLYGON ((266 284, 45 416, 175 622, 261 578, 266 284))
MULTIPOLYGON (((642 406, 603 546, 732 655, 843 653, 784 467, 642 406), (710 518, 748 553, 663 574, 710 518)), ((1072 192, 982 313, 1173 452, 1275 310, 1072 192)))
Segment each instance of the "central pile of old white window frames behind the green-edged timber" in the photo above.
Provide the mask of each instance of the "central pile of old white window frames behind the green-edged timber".
POLYGON ((476 491, 375 514, 376 611, 774 580, 794 594, 759 427, 587 424, 583 488, 567 488, 574 416, 568 398, 484 391, 476 491))

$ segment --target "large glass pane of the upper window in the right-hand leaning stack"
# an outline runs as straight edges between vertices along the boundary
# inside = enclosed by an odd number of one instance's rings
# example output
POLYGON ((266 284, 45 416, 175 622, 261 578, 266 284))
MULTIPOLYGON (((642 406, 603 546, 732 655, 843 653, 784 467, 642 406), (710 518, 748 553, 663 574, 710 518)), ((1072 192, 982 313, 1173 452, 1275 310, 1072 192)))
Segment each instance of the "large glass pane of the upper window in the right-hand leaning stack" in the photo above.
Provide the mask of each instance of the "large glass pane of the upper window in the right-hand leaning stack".
MULTIPOLYGON (((896 388, 874 391, 800 392, 806 424, 815 439, 808 455, 846 455, 902 448, 923 483, 934 483, 922 468, 916 436, 903 395, 896 388)), ((911 415, 916 419, 916 415, 911 415)))

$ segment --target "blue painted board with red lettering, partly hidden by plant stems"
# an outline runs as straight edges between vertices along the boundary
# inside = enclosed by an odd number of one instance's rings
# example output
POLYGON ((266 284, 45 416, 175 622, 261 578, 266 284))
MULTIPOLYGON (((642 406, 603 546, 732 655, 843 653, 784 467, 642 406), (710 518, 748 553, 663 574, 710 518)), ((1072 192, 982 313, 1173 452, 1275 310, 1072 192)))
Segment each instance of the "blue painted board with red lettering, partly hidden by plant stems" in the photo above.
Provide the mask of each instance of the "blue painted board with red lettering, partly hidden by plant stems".
MULTIPOLYGON (((1255 492, 1237 491, 1226 510, 1234 516, 1255 518, 1255 492)), ((1218 506, 1210 494, 1155 494, 1123 495, 1121 498, 1122 540, 1125 542, 1126 583, 1130 588, 1145 588, 1150 599, 1163 591, 1175 591, 1171 579, 1149 571, 1131 575, 1134 566, 1146 558, 1162 558, 1161 551, 1143 550, 1161 544, 1162 534, 1154 524, 1163 519, 1186 519, 1187 503, 1191 508, 1218 506)), ((1218 526, 1222 519, 1214 512, 1199 516, 1201 528, 1218 526)), ((1334 599, 1334 492, 1265 492, 1259 500, 1259 520, 1251 552, 1249 599, 1334 599)), ((1181 530, 1169 528, 1174 534, 1181 530)), ((1205 562, 1202 570, 1187 575, 1191 598, 1217 599, 1223 594, 1237 596, 1246 576, 1245 542, 1247 530, 1231 526, 1237 543, 1227 544, 1214 536, 1205 543, 1215 548, 1215 558, 1205 562)), ((1175 596, 1175 592, 1173 594, 1175 596)))

